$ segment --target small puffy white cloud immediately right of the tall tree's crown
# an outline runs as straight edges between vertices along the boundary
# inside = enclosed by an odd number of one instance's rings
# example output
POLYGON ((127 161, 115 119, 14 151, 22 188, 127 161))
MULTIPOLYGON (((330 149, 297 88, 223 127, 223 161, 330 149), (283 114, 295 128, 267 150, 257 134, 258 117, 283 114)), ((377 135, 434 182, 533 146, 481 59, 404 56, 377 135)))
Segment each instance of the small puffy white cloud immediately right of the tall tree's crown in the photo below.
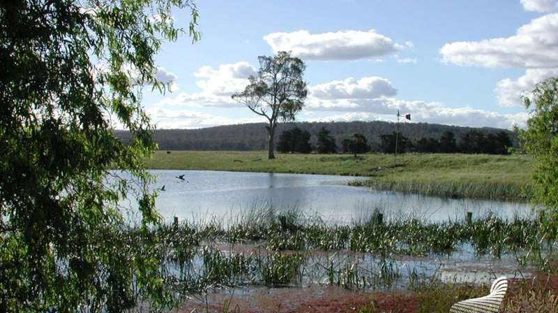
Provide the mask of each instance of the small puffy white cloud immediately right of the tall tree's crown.
POLYGON ((324 84, 310 86, 310 96, 319 99, 375 99, 382 96, 395 96, 397 89, 386 78, 377 76, 365 77, 360 80, 347 78, 333 80, 324 84))

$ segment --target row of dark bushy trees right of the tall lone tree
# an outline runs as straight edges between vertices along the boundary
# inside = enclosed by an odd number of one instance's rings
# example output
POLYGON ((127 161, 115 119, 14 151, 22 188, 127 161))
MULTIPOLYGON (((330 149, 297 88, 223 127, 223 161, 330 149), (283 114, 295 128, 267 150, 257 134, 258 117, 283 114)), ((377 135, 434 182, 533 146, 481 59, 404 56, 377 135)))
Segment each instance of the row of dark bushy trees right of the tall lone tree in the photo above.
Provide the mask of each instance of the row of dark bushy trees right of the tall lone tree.
MULTIPOLYGON (((317 145, 312 149, 310 132, 302 131, 298 127, 283 131, 279 136, 277 150, 283 153, 336 153, 337 145, 330 131, 322 127, 317 135, 317 145)), ((341 142, 342 153, 362 154, 366 152, 393 153, 397 147, 398 153, 471 153, 471 154, 508 154, 513 147, 511 138, 505 131, 485 133, 472 130, 462 133, 457 140, 455 133, 445 131, 439 138, 421 137, 415 140, 402 136, 401 133, 387 133, 379 135, 380 143, 374 149, 368 145, 368 139, 361 133, 353 133, 350 138, 341 142)))

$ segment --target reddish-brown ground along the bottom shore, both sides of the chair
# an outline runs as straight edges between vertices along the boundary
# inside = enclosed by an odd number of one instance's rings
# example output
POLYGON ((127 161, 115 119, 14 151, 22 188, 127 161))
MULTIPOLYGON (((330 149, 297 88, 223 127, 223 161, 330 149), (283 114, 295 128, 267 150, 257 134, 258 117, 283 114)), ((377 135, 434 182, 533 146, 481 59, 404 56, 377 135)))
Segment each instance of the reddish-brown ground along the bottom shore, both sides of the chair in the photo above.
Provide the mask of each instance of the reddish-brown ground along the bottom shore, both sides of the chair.
MULTIPOLYGON (((537 273, 534 277, 510 279, 505 302, 522 306, 529 290, 552 291, 558 294, 558 275, 537 273)), ((375 302, 377 312, 411 313, 418 310, 418 294, 412 291, 349 291, 340 286, 313 285, 298 288, 265 288, 250 291, 225 291, 193 298, 178 312, 246 312, 246 313, 333 313, 358 312, 375 302), (207 303, 207 305, 206 305, 207 303)), ((527 304, 528 306, 528 304, 527 304)), ((527 312, 529 310, 526 310, 527 312)), ((531 311, 529 311, 531 312, 531 311)))

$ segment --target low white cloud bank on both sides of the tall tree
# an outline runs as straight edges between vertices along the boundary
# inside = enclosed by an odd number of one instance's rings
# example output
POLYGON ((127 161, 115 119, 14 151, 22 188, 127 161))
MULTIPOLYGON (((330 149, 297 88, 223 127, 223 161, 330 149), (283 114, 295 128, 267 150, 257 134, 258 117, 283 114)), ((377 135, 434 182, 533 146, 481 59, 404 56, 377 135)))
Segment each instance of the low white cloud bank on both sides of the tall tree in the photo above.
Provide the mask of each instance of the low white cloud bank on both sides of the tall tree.
MULTIPOLYGON (((241 108, 230 98, 232 92, 243 89, 246 77, 254 73, 246 62, 223 64, 218 68, 202 66, 195 72, 201 92, 182 92, 172 98, 159 101, 148 110, 159 128, 200 128, 224 124, 264 122, 246 112, 246 118, 215 116, 185 108, 223 107, 241 108)), ((308 87, 310 94, 300 120, 393 120, 395 112, 409 112, 413 122, 455 124, 461 126, 495 126, 511 128, 525 124, 527 113, 501 114, 471 107, 448 108, 443 103, 428 101, 405 101, 395 99, 397 90, 386 78, 376 76, 359 80, 347 78, 333 80, 308 87), (324 112, 336 112, 329 117, 324 112), (320 113, 320 114, 318 114, 320 113), (306 118, 305 118, 306 117, 306 118)))

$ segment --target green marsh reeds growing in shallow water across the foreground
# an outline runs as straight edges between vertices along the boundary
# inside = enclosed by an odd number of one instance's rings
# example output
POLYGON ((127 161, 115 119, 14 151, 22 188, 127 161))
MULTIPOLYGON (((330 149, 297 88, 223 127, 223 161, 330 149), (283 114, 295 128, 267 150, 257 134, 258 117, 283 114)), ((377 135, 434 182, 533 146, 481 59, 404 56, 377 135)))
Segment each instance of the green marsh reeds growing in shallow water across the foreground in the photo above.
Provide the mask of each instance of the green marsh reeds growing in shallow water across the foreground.
MULTIPOLYGON (((379 219, 379 214, 383 211, 335 224, 296 209, 254 207, 228 220, 208 217, 203 222, 163 224, 151 229, 149 238, 160 242, 153 253, 163 259, 161 270, 169 285, 183 296, 238 286, 316 283, 356 290, 392 289, 395 282, 401 286, 406 279, 406 286, 428 298, 435 287, 425 288, 424 283, 435 272, 401 268, 394 257, 451 257, 471 247, 477 256, 513 255, 518 266, 542 268, 549 247, 555 245, 541 241, 539 219, 508 220, 487 214, 470 223, 429 222, 416 216, 379 219)), ((128 233, 133 245, 143 240, 134 229, 128 233)))

